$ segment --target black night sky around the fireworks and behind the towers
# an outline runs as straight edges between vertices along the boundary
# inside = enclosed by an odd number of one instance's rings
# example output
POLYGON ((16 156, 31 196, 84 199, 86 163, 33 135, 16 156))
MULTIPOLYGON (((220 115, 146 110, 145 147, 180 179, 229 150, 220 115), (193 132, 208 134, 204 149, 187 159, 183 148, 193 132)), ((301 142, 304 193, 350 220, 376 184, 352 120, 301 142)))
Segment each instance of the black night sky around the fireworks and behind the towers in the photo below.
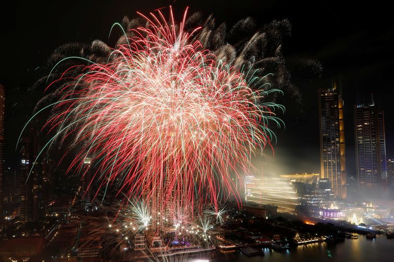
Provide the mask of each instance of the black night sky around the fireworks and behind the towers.
POLYGON ((26 1, 2 3, 0 84, 6 89, 6 160, 15 165, 17 134, 43 88, 33 83, 49 73, 46 61, 54 49, 67 42, 107 42, 114 22, 136 11, 150 12, 172 4, 178 17, 186 6, 190 12, 213 13, 232 25, 251 16, 259 26, 287 18, 292 36, 285 41, 287 58, 313 58, 323 65, 320 78, 293 74, 293 83, 303 96, 303 112, 283 116, 286 129, 277 131, 273 164, 279 173, 319 172, 319 125, 317 88, 338 82, 345 100, 345 132, 348 174, 354 175, 353 107, 357 100, 374 93, 386 112, 387 155, 394 157, 393 80, 394 29, 389 6, 379 1, 26 1))

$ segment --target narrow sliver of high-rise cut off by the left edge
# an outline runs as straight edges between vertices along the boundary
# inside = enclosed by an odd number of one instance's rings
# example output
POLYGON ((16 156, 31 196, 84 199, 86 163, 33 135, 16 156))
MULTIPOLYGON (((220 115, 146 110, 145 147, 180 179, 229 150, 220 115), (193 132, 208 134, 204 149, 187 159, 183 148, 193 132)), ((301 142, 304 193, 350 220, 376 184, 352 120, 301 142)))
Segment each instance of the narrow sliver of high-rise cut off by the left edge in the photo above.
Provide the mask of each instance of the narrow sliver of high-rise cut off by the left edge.
POLYGON ((4 91, 4 87, 0 85, 0 218, 3 217, 3 198, 4 198, 3 197, 4 113, 5 113, 5 91, 4 91))

